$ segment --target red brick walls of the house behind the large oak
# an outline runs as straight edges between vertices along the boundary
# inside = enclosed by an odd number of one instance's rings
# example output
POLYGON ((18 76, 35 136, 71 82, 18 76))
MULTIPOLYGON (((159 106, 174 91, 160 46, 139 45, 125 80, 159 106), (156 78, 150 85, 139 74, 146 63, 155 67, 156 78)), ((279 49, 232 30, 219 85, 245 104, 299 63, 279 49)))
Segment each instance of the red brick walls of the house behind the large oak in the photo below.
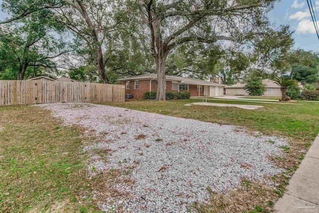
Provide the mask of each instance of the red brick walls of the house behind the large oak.
MULTIPOLYGON (((126 81, 121 81, 120 84, 126 85, 126 81)), ((157 91, 157 80, 152 80, 152 91, 157 91)), ((202 91, 200 91, 199 96, 204 95, 204 86, 202 86, 202 91)), ((139 80, 139 89, 135 89, 135 81, 130 80, 130 89, 126 89, 125 94, 132 94, 133 98, 143 99, 143 94, 150 91, 150 80, 139 80)), ((177 92, 177 90, 172 90, 172 82, 166 81, 166 91, 167 92, 177 92)), ((188 91, 191 96, 198 96, 197 85, 188 85, 188 91)), ((181 90, 181 92, 187 92, 181 90)))

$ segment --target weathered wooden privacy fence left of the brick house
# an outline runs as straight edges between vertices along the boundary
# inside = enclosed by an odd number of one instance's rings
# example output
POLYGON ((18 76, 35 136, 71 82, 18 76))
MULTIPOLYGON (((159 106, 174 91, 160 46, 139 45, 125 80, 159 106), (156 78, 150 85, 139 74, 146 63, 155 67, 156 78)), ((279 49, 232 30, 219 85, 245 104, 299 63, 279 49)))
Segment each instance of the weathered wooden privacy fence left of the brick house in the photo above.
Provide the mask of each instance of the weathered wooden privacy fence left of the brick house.
POLYGON ((124 101, 124 85, 45 80, 0 80, 0 105, 124 101))

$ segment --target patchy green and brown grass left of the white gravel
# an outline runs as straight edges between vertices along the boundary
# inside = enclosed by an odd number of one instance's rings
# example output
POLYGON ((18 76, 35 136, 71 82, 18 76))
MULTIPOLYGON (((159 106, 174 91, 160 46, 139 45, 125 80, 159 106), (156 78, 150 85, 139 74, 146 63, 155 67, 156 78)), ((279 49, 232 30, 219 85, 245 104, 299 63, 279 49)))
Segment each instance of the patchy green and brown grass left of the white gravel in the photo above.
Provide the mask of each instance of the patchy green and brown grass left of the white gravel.
POLYGON ((95 211, 81 154, 90 138, 61 124, 38 107, 0 107, 1 213, 95 211))

